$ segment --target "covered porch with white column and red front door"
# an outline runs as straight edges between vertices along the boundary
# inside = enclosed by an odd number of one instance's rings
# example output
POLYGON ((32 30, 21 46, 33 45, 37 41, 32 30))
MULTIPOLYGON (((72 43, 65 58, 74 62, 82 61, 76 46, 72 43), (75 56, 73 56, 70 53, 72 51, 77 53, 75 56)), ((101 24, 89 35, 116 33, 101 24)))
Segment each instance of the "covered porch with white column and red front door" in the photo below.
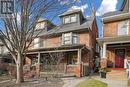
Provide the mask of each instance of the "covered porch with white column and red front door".
POLYGON ((130 60, 130 36, 98 38, 97 41, 102 68, 125 68, 125 60, 130 60))

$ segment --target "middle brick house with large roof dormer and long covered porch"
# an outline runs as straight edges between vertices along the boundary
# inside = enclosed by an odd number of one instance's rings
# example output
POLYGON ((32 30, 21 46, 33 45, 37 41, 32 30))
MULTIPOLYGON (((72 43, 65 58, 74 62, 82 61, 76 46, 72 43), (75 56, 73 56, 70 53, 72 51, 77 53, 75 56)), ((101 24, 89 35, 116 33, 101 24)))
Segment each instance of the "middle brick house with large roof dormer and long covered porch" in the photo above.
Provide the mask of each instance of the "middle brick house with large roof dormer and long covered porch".
MULTIPOLYGON (((60 60, 58 64, 61 65, 59 71, 78 77, 83 76, 87 67, 93 69, 97 53, 96 19, 93 16, 84 17, 82 11, 75 8, 69 9, 59 17, 61 20, 59 26, 53 26, 51 29, 48 26, 38 35, 38 38, 34 39, 28 49, 25 64, 36 65, 37 73, 44 72, 45 64, 50 64, 51 57, 57 57, 60 60)), ((45 27, 46 22, 48 20, 41 20, 39 25, 45 27)), ((38 31, 40 28, 36 33, 38 31)), ((53 62, 51 65, 54 68, 56 64, 53 62)))

